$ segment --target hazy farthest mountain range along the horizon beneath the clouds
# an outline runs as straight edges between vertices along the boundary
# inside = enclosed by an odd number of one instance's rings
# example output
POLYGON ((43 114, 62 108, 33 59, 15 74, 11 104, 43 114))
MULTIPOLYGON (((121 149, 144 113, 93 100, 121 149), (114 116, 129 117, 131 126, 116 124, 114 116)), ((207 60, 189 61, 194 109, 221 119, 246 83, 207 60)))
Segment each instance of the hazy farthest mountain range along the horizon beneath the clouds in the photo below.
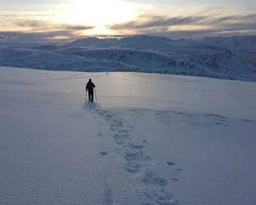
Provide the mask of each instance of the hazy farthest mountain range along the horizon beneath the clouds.
POLYGON ((233 36, 233 37, 208 37, 200 40, 193 39, 168 39, 148 35, 137 35, 122 39, 78 39, 66 45, 66 47, 121 47, 152 49, 158 51, 170 50, 172 47, 205 45, 217 48, 230 49, 236 55, 256 66, 256 36, 233 36))

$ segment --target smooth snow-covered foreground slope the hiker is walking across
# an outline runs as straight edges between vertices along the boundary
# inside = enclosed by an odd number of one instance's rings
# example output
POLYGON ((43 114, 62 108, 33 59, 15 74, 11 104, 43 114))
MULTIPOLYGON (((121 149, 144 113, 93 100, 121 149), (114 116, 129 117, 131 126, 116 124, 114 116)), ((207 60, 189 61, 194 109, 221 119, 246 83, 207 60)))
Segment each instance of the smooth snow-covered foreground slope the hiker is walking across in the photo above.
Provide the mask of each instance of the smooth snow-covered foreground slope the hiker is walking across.
POLYGON ((256 83, 0 67, 0 84, 1 204, 256 202, 256 83))

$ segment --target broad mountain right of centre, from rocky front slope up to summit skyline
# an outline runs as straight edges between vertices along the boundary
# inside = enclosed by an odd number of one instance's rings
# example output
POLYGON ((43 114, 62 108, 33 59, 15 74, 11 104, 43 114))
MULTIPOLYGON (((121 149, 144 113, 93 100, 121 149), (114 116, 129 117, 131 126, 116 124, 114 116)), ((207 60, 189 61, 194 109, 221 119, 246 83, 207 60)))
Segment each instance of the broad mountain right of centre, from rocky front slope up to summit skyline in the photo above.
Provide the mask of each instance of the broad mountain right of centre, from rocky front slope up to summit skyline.
POLYGON ((158 36, 132 36, 120 39, 109 48, 67 48, 81 57, 104 59, 139 66, 144 71, 177 75, 199 75, 224 79, 255 78, 255 66, 229 49, 203 45, 192 39, 167 39, 158 36))

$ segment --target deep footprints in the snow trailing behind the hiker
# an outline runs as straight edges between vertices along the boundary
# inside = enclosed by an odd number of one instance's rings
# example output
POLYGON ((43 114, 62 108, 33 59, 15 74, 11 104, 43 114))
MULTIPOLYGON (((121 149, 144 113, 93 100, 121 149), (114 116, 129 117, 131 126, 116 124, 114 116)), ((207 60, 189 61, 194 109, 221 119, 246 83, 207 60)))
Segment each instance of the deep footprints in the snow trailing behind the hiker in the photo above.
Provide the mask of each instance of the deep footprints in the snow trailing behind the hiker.
MULTIPOLYGON (((144 151, 143 144, 134 144, 130 138, 130 131, 124 129, 123 122, 113 117, 110 112, 101 111, 96 108, 98 115, 109 123, 109 129, 112 131, 112 138, 115 143, 121 148, 117 148, 117 153, 120 153, 126 159, 125 170, 130 174, 139 173, 142 167, 146 166, 146 162, 151 160, 151 157, 144 151)), ((147 143, 143 140, 143 143, 147 143)), ((100 153, 107 155, 106 152, 100 153)), ((174 162, 167 162, 167 166, 175 166, 174 162)), ((176 169, 181 171, 180 169, 176 169)), ((159 176, 155 171, 147 170, 143 175, 138 175, 140 181, 144 185, 144 193, 139 195, 139 198, 144 205, 177 205, 179 201, 173 194, 167 192, 164 187, 168 180, 159 176)), ((172 178, 173 181, 178 181, 172 178)))

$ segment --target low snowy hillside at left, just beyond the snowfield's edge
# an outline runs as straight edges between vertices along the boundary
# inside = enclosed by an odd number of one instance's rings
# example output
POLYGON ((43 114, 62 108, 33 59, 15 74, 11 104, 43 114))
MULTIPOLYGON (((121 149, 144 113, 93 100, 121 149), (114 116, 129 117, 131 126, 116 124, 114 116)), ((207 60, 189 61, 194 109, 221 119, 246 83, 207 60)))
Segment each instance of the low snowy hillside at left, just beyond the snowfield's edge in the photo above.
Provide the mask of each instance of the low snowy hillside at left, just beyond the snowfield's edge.
MULTIPOLYGON (((77 50, 77 49, 75 49, 77 50)), ((139 71, 121 62, 80 57, 62 50, 14 47, 0 50, 0 65, 48 71, 139 71)))

